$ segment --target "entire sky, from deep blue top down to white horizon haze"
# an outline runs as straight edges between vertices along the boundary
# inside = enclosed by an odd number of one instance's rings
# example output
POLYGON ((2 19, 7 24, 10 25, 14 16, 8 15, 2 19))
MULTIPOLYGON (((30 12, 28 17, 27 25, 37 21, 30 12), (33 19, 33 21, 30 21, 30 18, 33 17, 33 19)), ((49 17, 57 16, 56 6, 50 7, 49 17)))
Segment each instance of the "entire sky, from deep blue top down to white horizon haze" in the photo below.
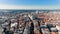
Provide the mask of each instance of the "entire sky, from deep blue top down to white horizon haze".
POLYGON ((0 0, 0 9, 1 8, 18 8, 18 9, 26 9, 26 8, 53 8, 60 9, 60 0, 0 0))

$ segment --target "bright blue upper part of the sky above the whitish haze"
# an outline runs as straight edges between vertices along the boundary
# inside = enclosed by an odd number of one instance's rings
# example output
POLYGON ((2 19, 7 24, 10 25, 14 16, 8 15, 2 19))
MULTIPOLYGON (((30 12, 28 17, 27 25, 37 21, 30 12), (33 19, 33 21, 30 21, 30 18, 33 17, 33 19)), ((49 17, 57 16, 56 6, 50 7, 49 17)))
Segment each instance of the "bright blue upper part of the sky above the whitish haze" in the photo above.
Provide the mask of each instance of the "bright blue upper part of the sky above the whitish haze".
POLYGON ((47 6, 60 5, 60 0, 0 0, 0 4, 6 5, 29 5, 29 6, 47 6))

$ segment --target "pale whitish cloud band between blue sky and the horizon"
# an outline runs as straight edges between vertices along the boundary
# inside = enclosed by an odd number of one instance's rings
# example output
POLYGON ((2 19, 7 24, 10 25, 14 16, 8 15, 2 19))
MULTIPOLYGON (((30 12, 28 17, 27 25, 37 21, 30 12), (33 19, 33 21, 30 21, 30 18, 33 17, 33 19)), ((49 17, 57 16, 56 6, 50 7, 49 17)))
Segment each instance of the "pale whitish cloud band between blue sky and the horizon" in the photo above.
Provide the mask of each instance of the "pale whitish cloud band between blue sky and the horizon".
POLYGON ((18 6, 18 5, 0 5, 0 9, 60 9, 60 6, 18 6))

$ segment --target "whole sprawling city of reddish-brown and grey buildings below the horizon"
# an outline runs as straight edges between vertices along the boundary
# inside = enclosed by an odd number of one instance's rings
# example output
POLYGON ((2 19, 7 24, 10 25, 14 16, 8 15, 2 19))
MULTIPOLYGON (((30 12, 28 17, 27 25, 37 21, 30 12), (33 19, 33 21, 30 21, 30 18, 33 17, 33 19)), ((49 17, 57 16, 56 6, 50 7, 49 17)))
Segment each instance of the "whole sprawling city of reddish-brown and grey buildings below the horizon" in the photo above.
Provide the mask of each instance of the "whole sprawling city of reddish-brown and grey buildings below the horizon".
POLYGON ((60 34, 60 10, 0 10, 0 34, 60 34))

